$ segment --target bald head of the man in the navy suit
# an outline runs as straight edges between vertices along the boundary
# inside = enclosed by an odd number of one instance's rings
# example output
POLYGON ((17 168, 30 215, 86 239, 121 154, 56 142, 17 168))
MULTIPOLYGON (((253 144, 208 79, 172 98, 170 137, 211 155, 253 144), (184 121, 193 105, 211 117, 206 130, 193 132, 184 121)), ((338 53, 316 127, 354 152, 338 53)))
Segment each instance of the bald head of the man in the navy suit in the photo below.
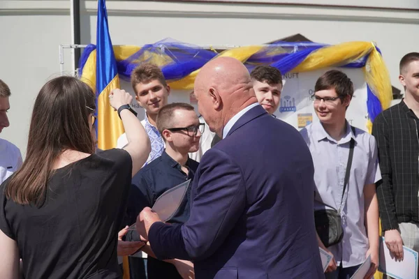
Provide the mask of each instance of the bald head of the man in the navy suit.
POLYGON ((258 101, 249 71, 231 57, 206 63, 196 77, 194 90, 200 114, 220 137, 223 127, 237 112, 258 101))

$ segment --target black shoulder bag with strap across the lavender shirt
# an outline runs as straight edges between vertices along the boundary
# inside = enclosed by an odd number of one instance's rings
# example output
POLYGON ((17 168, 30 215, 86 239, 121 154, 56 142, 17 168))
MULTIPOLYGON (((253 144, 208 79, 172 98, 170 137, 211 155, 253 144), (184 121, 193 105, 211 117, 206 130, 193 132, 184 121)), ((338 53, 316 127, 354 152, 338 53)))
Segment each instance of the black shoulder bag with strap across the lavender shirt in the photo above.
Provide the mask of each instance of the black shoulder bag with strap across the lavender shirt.
MULTIPOLYGON (((353 135, 355 135, 355 128, 351 126, 353 135)), ((349 181, 349 173, 351 172, 353 148, 355 141, 351 139, 349 146, 349 157, 348 164, 346 165, 346 173, 344 179, 344 191, 342 192, 341 203, 344 200, 346 185, 349 181)), ((342 207, 342 206, 340 206, 342 207)), ((323 242, 324 246, 329 247, 339 243, 344 237, 344 229, 341 225, 341 209, 339 211, 335 209, 321 209, 314 211, 314 222, 316 223, 316 231, 318 236, 323 242)))

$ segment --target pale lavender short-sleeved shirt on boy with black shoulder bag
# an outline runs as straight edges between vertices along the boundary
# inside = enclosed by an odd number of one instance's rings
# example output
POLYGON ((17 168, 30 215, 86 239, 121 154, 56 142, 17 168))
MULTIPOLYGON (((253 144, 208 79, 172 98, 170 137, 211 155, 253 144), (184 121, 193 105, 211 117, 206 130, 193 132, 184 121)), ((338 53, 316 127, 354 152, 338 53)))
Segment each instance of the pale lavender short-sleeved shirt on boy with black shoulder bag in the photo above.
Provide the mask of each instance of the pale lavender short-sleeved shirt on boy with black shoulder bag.
POLYGON ((341 208, 344 238, 328 249, 335 256, 338 265, 340 262, 343 267, 362 264, 369 248, 364 225, 364 187, 381 179, 376 140, 358 128, 355 128, 354 135, 347 121, 346 133, 339 142, 328 135, 319 121, 311 123, 300 133, 313 157, 316 182, 314 210, 341 208), (355 147, 349 181, 342 201, 351 138, 355 140, 355 147))

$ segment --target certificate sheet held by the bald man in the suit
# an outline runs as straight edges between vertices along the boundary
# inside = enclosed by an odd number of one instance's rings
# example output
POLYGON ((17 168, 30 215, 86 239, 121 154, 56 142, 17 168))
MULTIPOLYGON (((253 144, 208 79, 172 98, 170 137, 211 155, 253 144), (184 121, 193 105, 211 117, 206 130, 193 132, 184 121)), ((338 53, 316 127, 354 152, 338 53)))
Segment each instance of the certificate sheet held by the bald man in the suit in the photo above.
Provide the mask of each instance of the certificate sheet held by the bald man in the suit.
MULTIPOLYGON (((191 179, 180 183, 179 185, 170 188, 156 199, 152 211, 159 214, 162 222, 167 222, 175 215, 177 209, 179 209, 180 204, 182 204, 182 201, 184 200, 190 183, 191 179)), ((133 229, 135 229, 135 224, 131 225, 128 230, 133 229)))

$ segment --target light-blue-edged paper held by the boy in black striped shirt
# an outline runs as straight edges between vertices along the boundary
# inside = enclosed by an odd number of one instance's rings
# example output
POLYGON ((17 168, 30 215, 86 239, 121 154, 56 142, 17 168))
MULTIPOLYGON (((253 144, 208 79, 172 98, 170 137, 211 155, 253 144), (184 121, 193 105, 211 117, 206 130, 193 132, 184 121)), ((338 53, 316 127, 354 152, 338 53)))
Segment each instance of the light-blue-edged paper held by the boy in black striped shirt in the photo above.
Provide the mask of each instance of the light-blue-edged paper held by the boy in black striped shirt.
POLYGON ((378 271, 396 279, 418 279, 418 252, 403 246, 403 260, 399 261, 388 250, 384 238, 380 239, 378 271))

